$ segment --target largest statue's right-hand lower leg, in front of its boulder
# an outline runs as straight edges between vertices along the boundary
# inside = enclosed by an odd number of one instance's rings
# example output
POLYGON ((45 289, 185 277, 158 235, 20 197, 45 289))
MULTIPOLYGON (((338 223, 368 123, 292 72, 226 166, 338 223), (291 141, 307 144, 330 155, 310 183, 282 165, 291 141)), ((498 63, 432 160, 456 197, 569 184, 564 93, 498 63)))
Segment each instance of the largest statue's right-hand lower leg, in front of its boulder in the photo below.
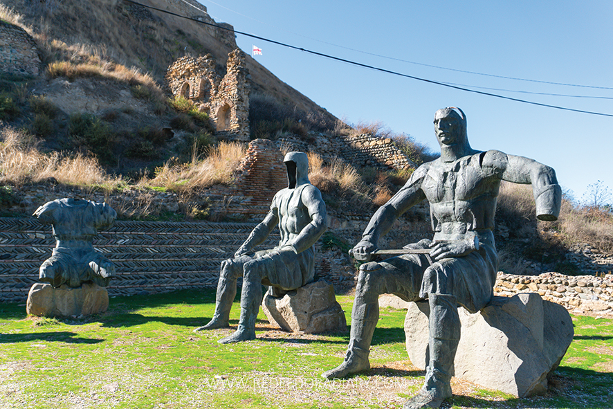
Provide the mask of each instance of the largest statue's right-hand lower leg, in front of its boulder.
POLYGON ((430 360, 426 381, 417 395, 404 403, 403 409, 439 408, 443 399, 452 396, 451 368, 460 338, 460 322, 454 296, 432 293, 428 346, 430 360))

